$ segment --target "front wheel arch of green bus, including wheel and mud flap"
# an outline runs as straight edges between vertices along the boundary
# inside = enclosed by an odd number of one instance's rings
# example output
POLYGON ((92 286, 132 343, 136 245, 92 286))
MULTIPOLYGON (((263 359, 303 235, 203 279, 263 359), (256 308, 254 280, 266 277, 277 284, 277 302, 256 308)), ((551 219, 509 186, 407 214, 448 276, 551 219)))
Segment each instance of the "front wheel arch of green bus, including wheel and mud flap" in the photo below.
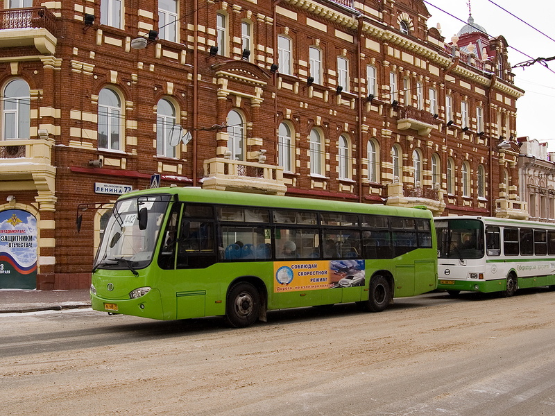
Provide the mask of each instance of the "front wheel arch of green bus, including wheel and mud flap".
POLYGON ((253 276, 232 281, 225 297, 225 320, 235 328, 266 322, 268 295, 264 282, 253 276))

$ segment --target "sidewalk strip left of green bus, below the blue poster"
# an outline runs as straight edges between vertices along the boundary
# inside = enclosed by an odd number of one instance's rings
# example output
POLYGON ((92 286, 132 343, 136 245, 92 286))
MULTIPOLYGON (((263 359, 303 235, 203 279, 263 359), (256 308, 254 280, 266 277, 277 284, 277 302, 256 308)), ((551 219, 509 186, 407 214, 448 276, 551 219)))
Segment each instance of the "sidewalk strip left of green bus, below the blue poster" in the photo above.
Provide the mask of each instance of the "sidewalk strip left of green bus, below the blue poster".
POLYGON ((88 289, 26 291, 0 289, 0 314, 8 312, 61 311, 91 306, 88 289))

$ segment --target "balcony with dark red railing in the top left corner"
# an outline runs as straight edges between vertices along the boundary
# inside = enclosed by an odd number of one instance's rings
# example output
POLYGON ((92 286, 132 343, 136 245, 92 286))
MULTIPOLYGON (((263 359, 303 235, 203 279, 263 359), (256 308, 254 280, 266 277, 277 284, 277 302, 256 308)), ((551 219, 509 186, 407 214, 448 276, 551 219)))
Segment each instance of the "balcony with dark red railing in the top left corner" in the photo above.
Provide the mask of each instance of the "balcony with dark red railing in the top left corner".
POLYGON ((56 43, 56 17, 46 7, 0 10, 1 48, 35 46, 52 55, 56 43))

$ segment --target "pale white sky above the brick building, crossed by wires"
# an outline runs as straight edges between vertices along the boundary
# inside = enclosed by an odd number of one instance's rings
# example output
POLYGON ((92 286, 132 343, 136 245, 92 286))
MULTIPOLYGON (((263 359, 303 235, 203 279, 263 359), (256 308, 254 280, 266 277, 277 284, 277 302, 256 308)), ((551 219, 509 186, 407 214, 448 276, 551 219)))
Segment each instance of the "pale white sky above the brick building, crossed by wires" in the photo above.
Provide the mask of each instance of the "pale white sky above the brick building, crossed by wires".
MULTIPOLYGON (((468 20, 468 0, 425 0, 430 15, 428 26, 441 25, 445 42, 459 32, 468 20), (434 7, 436 6, 436 7, 434 7), (447 15, 449 12, 454 17, 447 15), (462 19, 462 21, 457 20, 462 19)), ((535 58, 555 56, 555 41, 522 23, 501 8, 518 16, 545 35, 555 39, 555 1, 552 0, 470 0, 475 24, 483 26, 488 35, 503 35, 509 44, 509 62, 518 64, 535 58), (511 47, 512 46, 512 47, 511 47), (529 58, 521 51, 529 55, 529 58)), ((549 69, 536 63, 531 67, 514 68, 515 85, 526 91, 517 101, 517 135, 547 141, 549 151, 555 152, 555 60, 547 62, 549 69)))

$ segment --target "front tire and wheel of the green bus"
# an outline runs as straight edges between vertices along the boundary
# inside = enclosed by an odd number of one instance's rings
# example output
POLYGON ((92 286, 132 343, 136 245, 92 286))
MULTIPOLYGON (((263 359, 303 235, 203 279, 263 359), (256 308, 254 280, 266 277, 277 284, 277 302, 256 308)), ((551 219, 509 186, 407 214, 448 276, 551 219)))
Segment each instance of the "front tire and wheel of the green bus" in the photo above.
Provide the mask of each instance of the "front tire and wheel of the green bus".
POLYGON ((255 286, 243 281, 230 289, 225 303, 225 320, 231 327, 244 328, 256 322, 260 310, 260 295, 255 286))

